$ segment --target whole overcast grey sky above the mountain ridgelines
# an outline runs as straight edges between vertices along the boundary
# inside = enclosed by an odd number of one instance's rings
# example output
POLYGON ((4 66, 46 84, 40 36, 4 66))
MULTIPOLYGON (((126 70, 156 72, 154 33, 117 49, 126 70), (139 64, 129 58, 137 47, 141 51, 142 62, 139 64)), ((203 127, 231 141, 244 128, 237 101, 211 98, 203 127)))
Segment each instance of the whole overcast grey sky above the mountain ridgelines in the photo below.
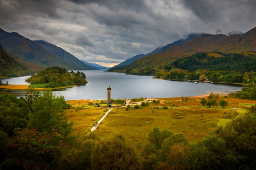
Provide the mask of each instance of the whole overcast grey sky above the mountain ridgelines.
POLYGON ((255 0, 0 0, 0 28, 114 66, 191 33, 256 27, 255 0))

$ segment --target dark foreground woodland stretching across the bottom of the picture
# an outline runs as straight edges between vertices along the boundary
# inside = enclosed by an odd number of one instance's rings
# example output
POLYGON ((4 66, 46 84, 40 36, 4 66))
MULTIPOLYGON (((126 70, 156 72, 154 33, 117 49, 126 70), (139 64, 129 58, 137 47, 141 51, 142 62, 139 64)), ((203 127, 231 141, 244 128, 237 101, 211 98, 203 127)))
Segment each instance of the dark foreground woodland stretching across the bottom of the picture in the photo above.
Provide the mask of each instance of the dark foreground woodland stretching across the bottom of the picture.
MULTIPOLYGON (((246 90, 246 89, 244 89, 246 90)), ((209 96, 210 99, 210 96, 209 96)), ((0 96, 1 169, 254 169, 256 105, 197 143, 155 127, 142 145, 124 134, 71 135, 65 98, 29 89, 0 96)))

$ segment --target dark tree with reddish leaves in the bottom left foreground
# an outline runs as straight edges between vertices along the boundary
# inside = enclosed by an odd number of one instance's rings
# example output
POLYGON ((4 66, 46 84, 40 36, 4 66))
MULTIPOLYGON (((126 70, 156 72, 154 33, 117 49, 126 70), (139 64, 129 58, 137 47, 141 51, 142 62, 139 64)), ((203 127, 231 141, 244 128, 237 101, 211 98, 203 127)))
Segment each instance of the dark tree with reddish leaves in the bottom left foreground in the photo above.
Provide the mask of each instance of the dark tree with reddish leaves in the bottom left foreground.
POLYGON ((25 162, 25 169, 34 166, 35 169, 57 169, 60 159, 65 159, 71 146, 66 145, 61 134, 54 128, 49 132, 39 132, 36 129, 17 129, 15 137, 6 146, 7 156, 17 162, 25 162), (26 168, 27 166, 27 168, 26 168))

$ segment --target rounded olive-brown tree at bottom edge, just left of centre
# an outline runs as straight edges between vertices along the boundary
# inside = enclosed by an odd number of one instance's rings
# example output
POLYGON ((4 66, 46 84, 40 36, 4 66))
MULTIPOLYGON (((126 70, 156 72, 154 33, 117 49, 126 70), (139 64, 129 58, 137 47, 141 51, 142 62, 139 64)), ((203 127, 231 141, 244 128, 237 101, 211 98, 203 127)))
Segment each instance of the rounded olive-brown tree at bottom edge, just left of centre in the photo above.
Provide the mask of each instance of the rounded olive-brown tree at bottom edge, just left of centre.
POLYGON ((101 140, 93 149, 92 169, 141 169, 137 150, 121 134, 101 140))

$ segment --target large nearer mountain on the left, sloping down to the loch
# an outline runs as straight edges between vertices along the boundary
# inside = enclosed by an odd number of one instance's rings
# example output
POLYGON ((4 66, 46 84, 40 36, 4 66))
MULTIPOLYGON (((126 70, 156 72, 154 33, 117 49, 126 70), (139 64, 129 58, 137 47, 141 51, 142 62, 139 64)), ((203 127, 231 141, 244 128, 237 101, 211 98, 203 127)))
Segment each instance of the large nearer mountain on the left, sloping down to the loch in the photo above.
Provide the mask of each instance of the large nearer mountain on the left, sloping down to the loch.
POLYGON ((73 61, 76 61, 75 58, 68 61, 69 58, 64 55, 66 58, 63 60, 59 55, 50 52, 35 41, 19 35, 19 33, 9 33, 1 29, 0 36, 0 44, 2 44, 4 50, 13 53, 22 62, 39 67, 59 66, 68 70, 94 70, 92 67, 79 62, 77 58, 78 65, 73 63, 73 61))

